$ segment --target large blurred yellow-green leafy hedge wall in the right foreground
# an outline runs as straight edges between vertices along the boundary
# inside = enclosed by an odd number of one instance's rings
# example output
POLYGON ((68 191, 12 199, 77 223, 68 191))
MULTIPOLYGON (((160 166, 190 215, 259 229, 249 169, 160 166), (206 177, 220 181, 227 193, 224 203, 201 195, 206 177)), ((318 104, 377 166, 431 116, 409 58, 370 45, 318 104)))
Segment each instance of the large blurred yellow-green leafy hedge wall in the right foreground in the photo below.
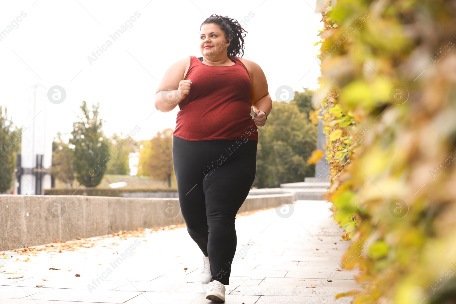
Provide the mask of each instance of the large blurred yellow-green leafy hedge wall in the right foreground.
POLYGON ((364 288, 352 303, 456 303, 456 1, 317 10, 312 100, 324 108, 327 198, 351 240, 342 261, 364 288))

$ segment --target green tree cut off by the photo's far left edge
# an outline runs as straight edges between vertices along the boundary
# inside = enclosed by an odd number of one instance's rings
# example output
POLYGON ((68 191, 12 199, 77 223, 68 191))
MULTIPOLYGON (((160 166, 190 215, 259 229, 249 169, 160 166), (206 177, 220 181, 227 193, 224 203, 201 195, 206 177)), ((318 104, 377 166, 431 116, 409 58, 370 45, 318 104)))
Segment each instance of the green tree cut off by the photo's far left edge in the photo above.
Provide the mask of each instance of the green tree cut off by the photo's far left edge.
POLYGON ((13 122, 8 119, 7 109, 5 113, 0 106, 0 193, 4 193, 11 187, 16 160, 14 148, 16 137, 13 132, 13 122))

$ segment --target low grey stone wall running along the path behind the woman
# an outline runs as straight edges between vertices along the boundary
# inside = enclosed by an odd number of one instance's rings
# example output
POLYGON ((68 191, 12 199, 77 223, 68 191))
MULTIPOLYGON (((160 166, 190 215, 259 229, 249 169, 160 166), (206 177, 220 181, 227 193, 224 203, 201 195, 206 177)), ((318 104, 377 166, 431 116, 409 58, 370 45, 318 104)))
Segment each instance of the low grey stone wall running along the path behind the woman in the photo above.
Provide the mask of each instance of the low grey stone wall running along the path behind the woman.
MULTIPOLYGON (((274 207, 294 195, 247 196, 239 212, 274 207)), ((0 251, 184 223, 177 198, 0 196, 0 251), (173 212, 174 211, 174 212, 173 212)))

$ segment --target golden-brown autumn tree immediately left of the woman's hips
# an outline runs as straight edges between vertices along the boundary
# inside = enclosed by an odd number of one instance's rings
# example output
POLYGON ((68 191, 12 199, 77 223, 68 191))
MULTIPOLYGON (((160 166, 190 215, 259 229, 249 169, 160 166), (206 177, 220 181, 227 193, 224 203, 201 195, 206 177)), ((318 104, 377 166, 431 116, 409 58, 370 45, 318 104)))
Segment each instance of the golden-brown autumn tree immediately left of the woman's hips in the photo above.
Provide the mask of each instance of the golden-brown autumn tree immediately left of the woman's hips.
POLYGON ((171 177, 174 176, 172 163, 172 133, 173 129, 157 132, 149 144, 140 151, 139 172, 152 176, 155 180, 164 180, 171 187, 171 177), (146 158, 146 157, 147 158, 146 158))

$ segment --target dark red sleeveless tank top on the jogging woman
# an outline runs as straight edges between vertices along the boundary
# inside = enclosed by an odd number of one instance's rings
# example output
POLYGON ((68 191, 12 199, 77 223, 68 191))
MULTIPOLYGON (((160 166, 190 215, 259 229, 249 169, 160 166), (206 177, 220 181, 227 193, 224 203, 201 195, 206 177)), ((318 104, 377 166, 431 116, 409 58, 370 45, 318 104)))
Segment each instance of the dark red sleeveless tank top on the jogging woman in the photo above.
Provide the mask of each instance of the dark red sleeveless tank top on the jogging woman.
POLYGON ((251 139, 258 141, 252 118, 252 84, 249 72, 238 58, 226 67, 212 67, 190 56, 185 79, 190 93, 179 103, 174 136, 187 140, 251 139))

